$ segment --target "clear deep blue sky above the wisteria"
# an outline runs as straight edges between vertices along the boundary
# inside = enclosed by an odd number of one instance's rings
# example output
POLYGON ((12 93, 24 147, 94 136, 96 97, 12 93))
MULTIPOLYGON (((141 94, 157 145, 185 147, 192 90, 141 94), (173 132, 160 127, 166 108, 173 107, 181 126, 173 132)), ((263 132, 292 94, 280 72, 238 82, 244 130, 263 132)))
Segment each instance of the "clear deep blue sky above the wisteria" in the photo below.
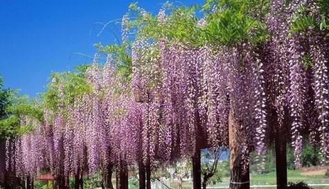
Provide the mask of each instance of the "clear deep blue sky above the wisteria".
MULTIPOLYGON (((113 25, 97 36, 106 23, 120 19, 130 0, 0 0, 0 75, 5 87, 35 96, 44 91, 52 71, 70 71, 89 63, 94 44, 115 43, 113 25)), ((139 6, 157 13, 165 1, 140 0, 139 6)), ((175 2, 175 1, 174 1, 175 2)), ((180 0, 190 5, 203 0, 180 0)), ((179 4, 177 2, 177 4, 179 4)))

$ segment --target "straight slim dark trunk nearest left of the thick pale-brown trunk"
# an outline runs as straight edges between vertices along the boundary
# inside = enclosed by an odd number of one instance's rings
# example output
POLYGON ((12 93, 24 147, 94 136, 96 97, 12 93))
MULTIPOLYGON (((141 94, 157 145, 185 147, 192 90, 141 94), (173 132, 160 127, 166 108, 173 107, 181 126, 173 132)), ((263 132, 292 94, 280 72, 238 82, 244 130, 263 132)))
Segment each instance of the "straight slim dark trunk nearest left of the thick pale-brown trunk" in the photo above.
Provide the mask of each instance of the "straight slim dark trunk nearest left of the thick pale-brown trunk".
POLYGON ((193 166, 193 189, 201 189, 201 152, 199 147, 192 157, 193 166))

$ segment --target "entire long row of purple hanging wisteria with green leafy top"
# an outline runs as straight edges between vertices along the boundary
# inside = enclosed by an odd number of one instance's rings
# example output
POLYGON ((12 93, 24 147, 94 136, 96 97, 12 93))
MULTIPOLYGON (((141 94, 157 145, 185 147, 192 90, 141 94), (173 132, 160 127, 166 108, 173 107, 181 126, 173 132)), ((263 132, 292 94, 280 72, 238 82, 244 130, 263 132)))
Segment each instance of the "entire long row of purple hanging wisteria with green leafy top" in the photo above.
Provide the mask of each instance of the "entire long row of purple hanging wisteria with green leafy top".
POLYGON ((286 138, 296 167, 303 137, 321 144, 323 163, 329 159, 329 42, 321 25, 328 10, 321 2, 259 1, 255 13, 249 1, 207 1, 201 19, 184 8, 166 15, 166 7, 152 17, 133 4, 137 17, 123 17, 123 45, 99 46, 105 65, 96 55, 78 73, 53 75, 44 120, 21 116, 35 129, 8 144, 15 145, 8 167, 21 177, 49 169, 56 189, 69 187, 70 173, 78 182, 97 170, 113 188, 116 168, 118 188, 127 188, 133 165, 140 188, 150 189, 153 169, 190 158, 199 189, 200 150, 224 146, 230 188, 249 188, 249 153, 262 162, 275 143, 278 188, 286 188, 286 138), (137 30, 133 42, 130 30, 137 30))

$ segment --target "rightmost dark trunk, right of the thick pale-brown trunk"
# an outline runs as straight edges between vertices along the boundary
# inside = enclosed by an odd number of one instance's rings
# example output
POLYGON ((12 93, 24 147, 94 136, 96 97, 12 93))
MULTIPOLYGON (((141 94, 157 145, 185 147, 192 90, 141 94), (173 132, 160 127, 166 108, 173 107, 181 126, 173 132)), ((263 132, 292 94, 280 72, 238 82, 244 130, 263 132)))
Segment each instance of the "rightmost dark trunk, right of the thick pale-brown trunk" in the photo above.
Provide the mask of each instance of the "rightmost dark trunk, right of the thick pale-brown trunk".
POLYGON ((287 188, 287 140, 281 132, 275 138, 276 188, 287 188))

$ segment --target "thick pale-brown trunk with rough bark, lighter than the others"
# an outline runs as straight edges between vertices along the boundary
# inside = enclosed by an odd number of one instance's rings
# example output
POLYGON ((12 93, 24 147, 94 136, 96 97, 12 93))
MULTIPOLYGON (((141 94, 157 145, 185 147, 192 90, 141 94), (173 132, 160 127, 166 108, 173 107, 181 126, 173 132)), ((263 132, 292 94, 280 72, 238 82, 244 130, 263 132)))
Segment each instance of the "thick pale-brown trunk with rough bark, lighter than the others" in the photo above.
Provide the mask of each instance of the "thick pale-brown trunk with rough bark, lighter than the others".
POLYGON ((241 166, 242 152, 238 141, 238 123, 235 123, 234 114, 229 113, 229 148, 230 148, 230 172, 231 172, 231 189, 249 189, 249 165, 246 170, 241 166))

